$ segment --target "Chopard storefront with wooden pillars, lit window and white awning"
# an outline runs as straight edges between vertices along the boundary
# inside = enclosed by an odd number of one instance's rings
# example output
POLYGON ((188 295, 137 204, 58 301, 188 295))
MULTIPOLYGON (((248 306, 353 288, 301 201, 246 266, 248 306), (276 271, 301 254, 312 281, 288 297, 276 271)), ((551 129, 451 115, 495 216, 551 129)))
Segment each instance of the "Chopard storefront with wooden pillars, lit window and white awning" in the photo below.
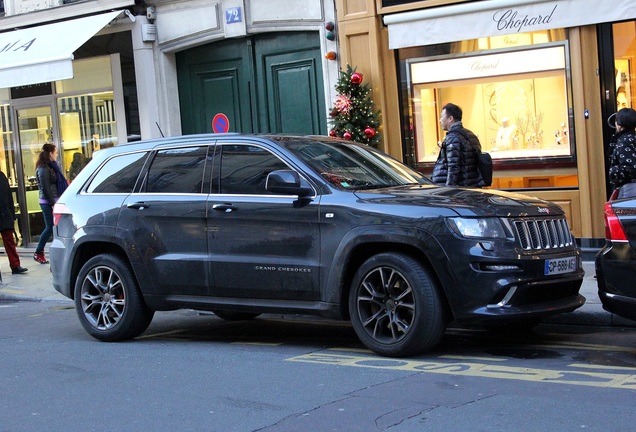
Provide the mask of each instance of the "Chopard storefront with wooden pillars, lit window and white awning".
POLYGON ((456 103, 493 188, 558 203, 584 251, 602 244, 607 118, 636 102, 633 1, 337 3, 341 64, 370 76, 386 151, 429 174, 456 103))

